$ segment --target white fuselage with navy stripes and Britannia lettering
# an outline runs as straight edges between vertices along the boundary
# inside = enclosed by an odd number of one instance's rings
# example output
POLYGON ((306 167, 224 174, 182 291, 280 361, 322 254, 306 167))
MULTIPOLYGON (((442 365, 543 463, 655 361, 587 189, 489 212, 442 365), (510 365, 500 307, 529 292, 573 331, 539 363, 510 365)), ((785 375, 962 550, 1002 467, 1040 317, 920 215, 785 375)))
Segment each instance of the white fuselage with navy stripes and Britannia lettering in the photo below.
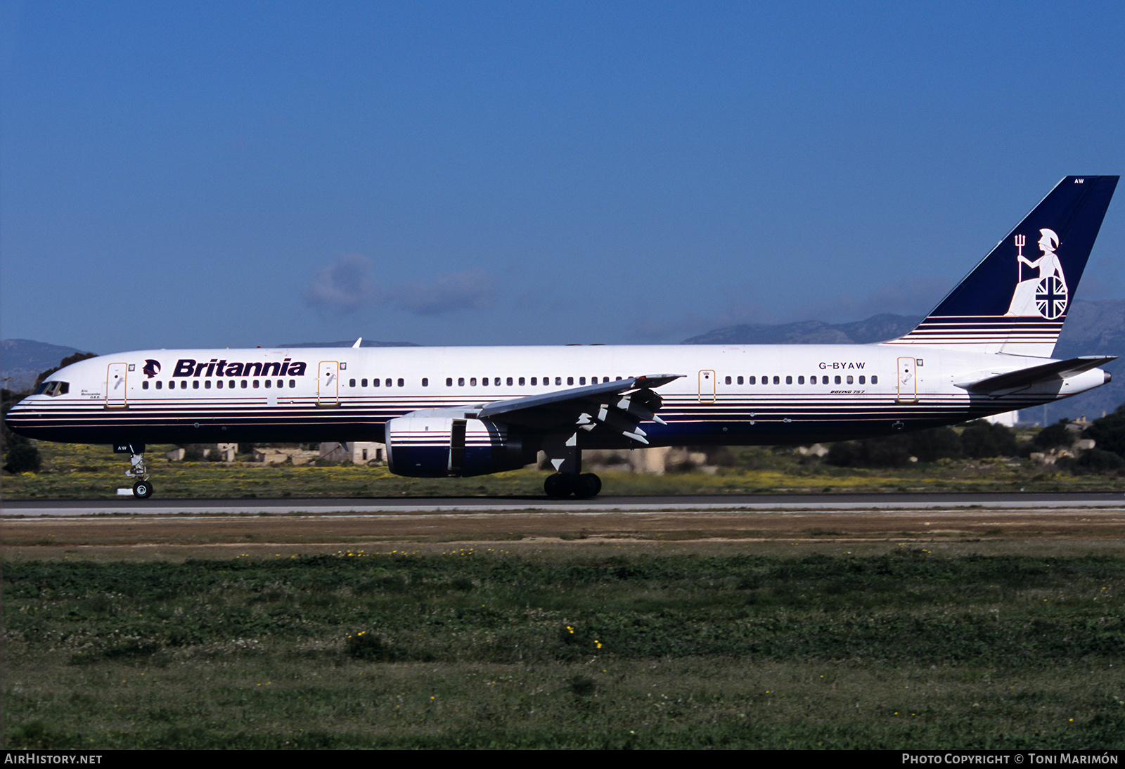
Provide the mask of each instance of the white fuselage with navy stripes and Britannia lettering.
POLYGON ((1094 370, 1002 395, 957 387, 1042 360, 893 344, 147 350, 62 369, 48 382, 66 386, 20 401, 8 423, 79 443, 381 441, 388 419, 420 409, 659 372, 682 376, 659 388, 667 424, 646 424, 650 445, 803 443, 955 424, 1104 382, 1094 370))

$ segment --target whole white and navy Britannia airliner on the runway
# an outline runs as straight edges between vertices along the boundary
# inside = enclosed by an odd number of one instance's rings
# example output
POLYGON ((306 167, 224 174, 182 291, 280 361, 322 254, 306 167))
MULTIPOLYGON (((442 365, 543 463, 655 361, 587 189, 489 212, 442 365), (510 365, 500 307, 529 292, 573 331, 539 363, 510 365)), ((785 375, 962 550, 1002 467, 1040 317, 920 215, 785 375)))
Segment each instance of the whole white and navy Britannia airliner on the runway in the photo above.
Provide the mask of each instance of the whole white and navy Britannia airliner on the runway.
POLYGON ((20 435, 114 444, 379 441, 400 476, 479 476, 543 451, 548 496, 591 497, 583 449, 802 444, 952 425, 1109 381, 1051 358, 1118 177, 1066 177, 906 336, 867 345, 144 350, 52 374, 20 435), (670 373, 656 373, 670 372, 670 373))

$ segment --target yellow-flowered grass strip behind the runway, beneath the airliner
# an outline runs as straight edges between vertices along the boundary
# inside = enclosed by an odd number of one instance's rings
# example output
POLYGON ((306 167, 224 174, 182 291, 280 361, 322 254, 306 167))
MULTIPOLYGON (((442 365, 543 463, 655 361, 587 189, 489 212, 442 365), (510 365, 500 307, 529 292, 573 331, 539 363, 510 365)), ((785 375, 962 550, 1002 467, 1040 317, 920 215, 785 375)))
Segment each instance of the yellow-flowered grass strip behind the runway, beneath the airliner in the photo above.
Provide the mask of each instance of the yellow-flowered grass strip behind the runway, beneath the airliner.
MULTIPOLYGON (((37 442, 43 472, 6 476, 7 499, 104 499, 132 486, 128 456, 108 446, 37 442)), ((539 497, 540 470, 524 469, 478 478, 399 478, 385 467, 352 464, 270 465, 171 462, 172 446, 150 446, 146 462, 159 498, 254 497, 539 497)), ((735 450, 735 467, 716 473, 645 476, 603 472, 603 495, 680 495, 810 491, 1080 491, 1125 490, 1125 478, 1043 472, 1026 460, 918 463, 898 470, 834 468, 785 450, 735 450)))

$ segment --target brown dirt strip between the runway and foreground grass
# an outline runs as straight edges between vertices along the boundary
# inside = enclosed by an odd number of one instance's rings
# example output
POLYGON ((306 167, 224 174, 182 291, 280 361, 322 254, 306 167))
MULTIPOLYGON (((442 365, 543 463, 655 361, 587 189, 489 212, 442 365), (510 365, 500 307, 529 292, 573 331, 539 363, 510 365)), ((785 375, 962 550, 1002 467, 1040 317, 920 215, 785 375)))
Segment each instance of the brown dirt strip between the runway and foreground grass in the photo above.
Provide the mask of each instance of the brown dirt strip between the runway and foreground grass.
MULTIPOLYGON (((18 518, 3 522, 6 558, 52 558, 160 548, 184 557, 232 549, 323 552, 402 544, 484 542, 1073 536, 1125 542, 1122 509, 846 512, 472 512, 281 516, 18 518)), ((135 555, 140 555, 137 552, 135 555)))

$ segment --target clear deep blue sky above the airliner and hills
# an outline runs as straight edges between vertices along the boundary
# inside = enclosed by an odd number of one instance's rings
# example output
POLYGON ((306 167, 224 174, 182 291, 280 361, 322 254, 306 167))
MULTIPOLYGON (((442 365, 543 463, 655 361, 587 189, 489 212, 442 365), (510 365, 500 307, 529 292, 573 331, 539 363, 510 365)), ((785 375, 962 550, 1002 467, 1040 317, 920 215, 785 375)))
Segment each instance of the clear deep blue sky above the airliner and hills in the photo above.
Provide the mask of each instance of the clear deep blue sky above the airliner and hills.
MULTIPOLYGON (((1123 33, 1110 2, 2 2, 0 334, 920 314, 1063 175, 1125 169, 1123 33)), ((1125 298, 1123 254, 1117 199, 1078 297, 1125 298)))

